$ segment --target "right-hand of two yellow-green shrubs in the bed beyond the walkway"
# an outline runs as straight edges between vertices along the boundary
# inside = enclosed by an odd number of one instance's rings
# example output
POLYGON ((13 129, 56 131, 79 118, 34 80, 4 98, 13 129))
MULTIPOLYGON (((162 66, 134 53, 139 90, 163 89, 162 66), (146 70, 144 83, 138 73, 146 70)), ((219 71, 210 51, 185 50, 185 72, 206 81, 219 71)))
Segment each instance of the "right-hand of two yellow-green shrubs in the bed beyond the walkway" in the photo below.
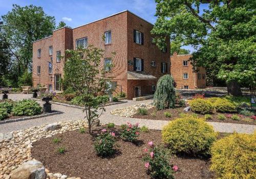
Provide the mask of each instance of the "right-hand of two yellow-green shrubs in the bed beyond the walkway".
POLYGON ((217 99, 214 103, 214 107, 216 111, 221 113, 233 113, 237 111, 237 106, 233 102, 225 98, 217 99))

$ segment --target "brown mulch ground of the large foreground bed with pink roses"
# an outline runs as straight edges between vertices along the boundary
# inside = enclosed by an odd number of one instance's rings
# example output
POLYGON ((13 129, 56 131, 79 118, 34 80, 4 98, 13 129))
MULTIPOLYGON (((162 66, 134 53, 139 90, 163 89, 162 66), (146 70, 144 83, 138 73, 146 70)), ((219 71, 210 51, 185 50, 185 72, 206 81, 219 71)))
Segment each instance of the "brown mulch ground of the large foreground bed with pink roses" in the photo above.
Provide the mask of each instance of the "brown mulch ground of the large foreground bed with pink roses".
MULTIPOLYGON (((55 135, 51 138, 41 139, 33 143, 32 157, 41 161, 50 172, 60 172, 68 176, 81 178, 150 178, 147 175, 144 162, 141 159, 143 148, 148 147, 148 141, 161 143, 161 131, 150 130, 141 132, 138 142, 124 142, 118 139, 118 151, 112 158, 100 158, 96 155, 93 140, 103 127, 94 130, 93 137, 78 130, 55 135), (61 142, 53 143, 54 138, 61 142), (65 154, 59 154, 58 147, 65 147, 65 154)), ((107 129, 113 131, 114 129, 107 129)), ((118 135, 117 129, 116 136, 118 135)), ((209 172, 209 160, 188 156, 172 156, 172 164, 177 165, 180 171, 175 178, 213 178, 209 172)))

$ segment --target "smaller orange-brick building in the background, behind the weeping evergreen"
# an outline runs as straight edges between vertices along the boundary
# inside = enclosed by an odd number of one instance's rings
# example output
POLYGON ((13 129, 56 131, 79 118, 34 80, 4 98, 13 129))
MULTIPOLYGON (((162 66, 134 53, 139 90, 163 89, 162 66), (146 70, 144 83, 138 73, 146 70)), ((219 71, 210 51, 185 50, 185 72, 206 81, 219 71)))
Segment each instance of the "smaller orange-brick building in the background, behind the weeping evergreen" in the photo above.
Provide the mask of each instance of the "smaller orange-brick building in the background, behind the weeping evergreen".
POLYGON ((188 61, 192 55, 178 55, 176 52, 170 56, 170 74, 174 78, 177 89, 205 88, 205 69, 198 67, 193 72, 193 65, 188 61))

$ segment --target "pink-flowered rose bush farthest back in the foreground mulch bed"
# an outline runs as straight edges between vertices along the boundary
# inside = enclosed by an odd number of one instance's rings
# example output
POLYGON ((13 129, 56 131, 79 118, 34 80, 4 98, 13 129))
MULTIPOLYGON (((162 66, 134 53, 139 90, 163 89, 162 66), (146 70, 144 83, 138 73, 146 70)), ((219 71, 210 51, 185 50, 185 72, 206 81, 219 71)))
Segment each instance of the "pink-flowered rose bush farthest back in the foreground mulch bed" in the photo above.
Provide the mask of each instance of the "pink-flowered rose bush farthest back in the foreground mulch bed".
POLYGON ((125 141, 134 142, 137 140, 139 136, 139 127, 138 123, 132 125, 131 123, 127 123, 125 128, 121 130, 121 138, 125 141))

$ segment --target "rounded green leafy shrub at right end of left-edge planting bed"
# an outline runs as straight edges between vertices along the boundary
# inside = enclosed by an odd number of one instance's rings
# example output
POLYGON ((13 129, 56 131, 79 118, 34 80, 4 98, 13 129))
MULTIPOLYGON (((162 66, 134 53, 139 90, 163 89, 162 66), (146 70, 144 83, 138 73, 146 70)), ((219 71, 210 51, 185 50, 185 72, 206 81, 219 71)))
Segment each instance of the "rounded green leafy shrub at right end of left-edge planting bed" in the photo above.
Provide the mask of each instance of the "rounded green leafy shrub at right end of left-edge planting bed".
POLYGON ((41 113, 41 106, 34 100, 23 99, 18 101, 12 108, 14 116, 34 116, 41 113))

